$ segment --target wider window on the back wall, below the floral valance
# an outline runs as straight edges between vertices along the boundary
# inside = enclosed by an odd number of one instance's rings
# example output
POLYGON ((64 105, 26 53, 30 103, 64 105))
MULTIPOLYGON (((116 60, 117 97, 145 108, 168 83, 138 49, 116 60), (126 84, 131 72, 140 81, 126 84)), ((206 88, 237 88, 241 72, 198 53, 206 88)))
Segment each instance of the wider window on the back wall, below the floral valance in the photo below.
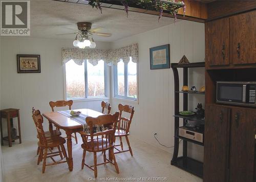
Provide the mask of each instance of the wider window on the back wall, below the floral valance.
POLYGON ((106 65, 100 60, 96 66, 83 61, 77 65, 70 60, 65 65, 66 70, 66 97, 92 98, 106 96, 106 65))

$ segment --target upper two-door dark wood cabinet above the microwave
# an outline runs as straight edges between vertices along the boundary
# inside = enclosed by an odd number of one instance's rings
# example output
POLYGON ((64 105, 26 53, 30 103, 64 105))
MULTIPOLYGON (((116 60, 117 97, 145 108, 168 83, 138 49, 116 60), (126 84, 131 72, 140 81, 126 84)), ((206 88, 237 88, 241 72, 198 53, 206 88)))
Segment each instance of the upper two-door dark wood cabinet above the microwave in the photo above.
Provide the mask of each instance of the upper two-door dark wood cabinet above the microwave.
POLYGON ((206 69, 256 63, 255 19, 254 10, 205 23, 206 69))

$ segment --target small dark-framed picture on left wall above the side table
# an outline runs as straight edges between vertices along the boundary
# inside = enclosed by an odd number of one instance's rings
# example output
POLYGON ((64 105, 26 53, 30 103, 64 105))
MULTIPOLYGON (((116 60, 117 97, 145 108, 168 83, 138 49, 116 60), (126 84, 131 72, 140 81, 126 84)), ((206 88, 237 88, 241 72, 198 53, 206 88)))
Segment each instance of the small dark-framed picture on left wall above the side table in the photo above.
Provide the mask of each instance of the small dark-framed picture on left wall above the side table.
POLYGON ((18 73, 40 73, 40 55, 17 55, 18 73))

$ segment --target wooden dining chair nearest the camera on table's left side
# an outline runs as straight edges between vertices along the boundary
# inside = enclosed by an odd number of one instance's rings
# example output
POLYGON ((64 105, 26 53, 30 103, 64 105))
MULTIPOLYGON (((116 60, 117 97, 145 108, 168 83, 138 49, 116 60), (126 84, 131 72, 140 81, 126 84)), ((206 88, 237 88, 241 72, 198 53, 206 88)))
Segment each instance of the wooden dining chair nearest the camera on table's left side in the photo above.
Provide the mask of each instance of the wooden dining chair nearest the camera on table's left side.
POLYGON ((42 173, 45 173, 46 166, 52 166, 55 164, 61 164, 61 163, 67 162, 67 153, 66 153, 65 146, 63 145, 66 143, 66 140, 60 136, 46 138, 44 129, 42 127, 42 122, 43 122, 42 115, 40 114, 39 110, 34 111, 32 117, 36 125, 37 136, 39 139, 38 145, 40 147, 39 156, 37 159, 37 165, 39 165, 40 161, 44 160, 42 164, 42 173), (58 151, 52 152, 51 148, 54 148, 54 147, 57 147, 58 151), (50 153, 48 153, 48 149, 50 150, 50 153), (62 161, 63 160, 62 154, 66 158, 66 161, 62 161), (58 155, 60 156, 61 160, 55 161, 53 157, 56 157, 58 155), (53 161, 53 163, 46 164, 47 158, 50 158, 53 161))

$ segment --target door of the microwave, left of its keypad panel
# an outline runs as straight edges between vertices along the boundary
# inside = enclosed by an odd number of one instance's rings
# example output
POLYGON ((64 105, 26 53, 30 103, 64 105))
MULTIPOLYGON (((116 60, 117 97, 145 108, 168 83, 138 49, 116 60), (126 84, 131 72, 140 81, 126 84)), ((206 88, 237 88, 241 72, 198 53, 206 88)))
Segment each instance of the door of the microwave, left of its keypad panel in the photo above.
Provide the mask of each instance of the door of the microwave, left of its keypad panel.
POLYGON ((246 85, 218 83, 217 85, 217 101, 224 102, 246 102, 246 85))

